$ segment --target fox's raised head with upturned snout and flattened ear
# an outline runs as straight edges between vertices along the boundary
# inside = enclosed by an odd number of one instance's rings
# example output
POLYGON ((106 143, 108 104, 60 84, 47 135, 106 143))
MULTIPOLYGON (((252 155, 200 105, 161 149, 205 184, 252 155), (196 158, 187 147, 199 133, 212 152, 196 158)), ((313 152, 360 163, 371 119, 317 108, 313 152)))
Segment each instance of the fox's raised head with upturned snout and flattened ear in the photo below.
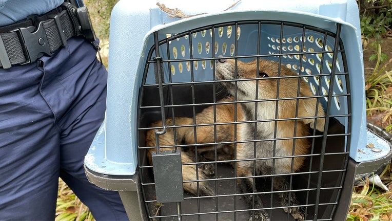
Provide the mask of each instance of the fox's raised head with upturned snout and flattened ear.
MULTIPOLYGON (((309 85, 296 72, 278 62, 254 59, 242 62, 234 59, 219 59, 216 63, 215 76, 229 93, 240 101, 261 100, 260 118, 284 119, 298 117, 325 116, 322 106, 316 98, 297 100, 299 97, 314 96, 309 85), (259 60, 259 62, 258 62, 259 60), (292 99, 290 99, 292 98, 292 99), (278 101, 278 99, 283 99, 278 101), (275 107, 278 106, 278 115, 275 107), (296 111, 298 108, 298 111, 296 111)), ((254 109, 254 103, 247 104, 254 109)), ((316 129, 324 130, 324 119, 317 121, 316 129)), ((304 119, 315 128, 314 119, 304 119)))

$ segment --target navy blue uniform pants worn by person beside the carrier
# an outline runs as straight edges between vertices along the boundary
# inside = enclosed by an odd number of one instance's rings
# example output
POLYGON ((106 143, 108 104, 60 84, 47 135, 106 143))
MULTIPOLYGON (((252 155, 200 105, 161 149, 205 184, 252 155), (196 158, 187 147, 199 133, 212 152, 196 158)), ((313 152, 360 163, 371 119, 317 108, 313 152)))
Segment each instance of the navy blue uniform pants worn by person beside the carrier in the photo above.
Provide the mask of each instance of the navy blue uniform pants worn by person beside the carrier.
POLYGON ((119 194, 83 169, 106 109, 95 54, 77 37, 51 57, 0 68, 0 220, 54 220, 59 176, 95 219, 128 219, 119 194))

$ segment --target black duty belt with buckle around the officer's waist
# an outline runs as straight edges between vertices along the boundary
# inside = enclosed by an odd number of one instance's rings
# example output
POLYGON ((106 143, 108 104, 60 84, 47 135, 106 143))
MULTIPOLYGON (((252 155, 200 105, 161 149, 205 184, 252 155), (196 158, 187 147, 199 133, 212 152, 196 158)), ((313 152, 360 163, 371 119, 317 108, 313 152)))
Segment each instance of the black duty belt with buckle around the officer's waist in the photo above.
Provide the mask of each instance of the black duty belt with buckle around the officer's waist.
POLYGON ((69 38, 79 35, 90 42, 95 40, 87 8, 67 2, 44 15, 32 15, 26 21, 0 27, 0 67, 9 69, 14 64, 28 64, 43 55, 53 55, 67 45, 69 38))

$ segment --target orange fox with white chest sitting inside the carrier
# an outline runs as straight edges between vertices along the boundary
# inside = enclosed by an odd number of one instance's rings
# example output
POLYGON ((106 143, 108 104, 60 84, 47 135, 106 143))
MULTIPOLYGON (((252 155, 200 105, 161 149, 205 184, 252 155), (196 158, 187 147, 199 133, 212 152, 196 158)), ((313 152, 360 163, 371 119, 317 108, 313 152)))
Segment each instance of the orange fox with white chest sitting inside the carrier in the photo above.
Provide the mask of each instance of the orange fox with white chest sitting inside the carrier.
MULTIPOLYGON (((283 210, 296 220, 303 220, 305 210, 297 206, 299 202, 295 193, 285 191, 290 189, 287 174, 298 172, 303 166, 304 155, 311 146, 306 138, 310 129, 324 131, 325 112, 321 103, 302 77, 276 61, 257 58, 243 62, 219 58, 215 61, 214 75, 228 92, 227 97, 194 118, 167 118, 169 127, 159 136, 163 150, 173 150, 164 146, 182 143, 200 144, 198 156, 182 151, 183 181, 201 181, 184 182, 184 190, 194 195, 215 194, 209 183, 202 181, 208 180, 213 169, 191 164, 195 158, 229 162, 235 159, 237 185, 243 193, 255 192, 254 175, 286 174, 274 176, 271 185, 280 191, 283 210), (170 127, 173 125, 179 127, 174 130, 170 127), (213 154, 207 154, 209 152, 213 154), (203 158, 208 155, 213 157, 203 158)), ((162 121, 151 126, 160 127, 162 121)), ((153 129, 146 132, 146 146, 156 146, 153 129)), ((151 165, 154 150, 147 151, 151 165)), ((246 195, 246 201, 250 207, 260 209, 255 210, 249 220, 270 220, 268 213, 262 210, 263 203, 258 194, 246 195)))

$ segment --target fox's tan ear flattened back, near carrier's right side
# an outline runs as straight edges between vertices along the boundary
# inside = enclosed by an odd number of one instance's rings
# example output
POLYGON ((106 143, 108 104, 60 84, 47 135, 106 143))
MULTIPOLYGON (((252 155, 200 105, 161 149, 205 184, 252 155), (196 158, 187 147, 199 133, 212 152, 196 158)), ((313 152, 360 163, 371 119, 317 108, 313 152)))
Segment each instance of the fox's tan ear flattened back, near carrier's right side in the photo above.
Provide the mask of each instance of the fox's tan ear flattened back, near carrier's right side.
POLYGON ((309 124, 310 128, 316 129, 323 132, 324 131, 324 125, 325 125, 325 112, 323 109, 323 106, 321 106, 320 103, 317 103, 317 99, 312 98, 312 99, 302 99, 299 103, 299 105, 302 107, 301 112, 298 113, 299 117, 317 117, 317 116, 323 116, 323 118, 309 118, 309 119, 303 119, 301 120, 305 124, 309 124), (316 114, 316 107, 317 108, 317 115, 316 114))

